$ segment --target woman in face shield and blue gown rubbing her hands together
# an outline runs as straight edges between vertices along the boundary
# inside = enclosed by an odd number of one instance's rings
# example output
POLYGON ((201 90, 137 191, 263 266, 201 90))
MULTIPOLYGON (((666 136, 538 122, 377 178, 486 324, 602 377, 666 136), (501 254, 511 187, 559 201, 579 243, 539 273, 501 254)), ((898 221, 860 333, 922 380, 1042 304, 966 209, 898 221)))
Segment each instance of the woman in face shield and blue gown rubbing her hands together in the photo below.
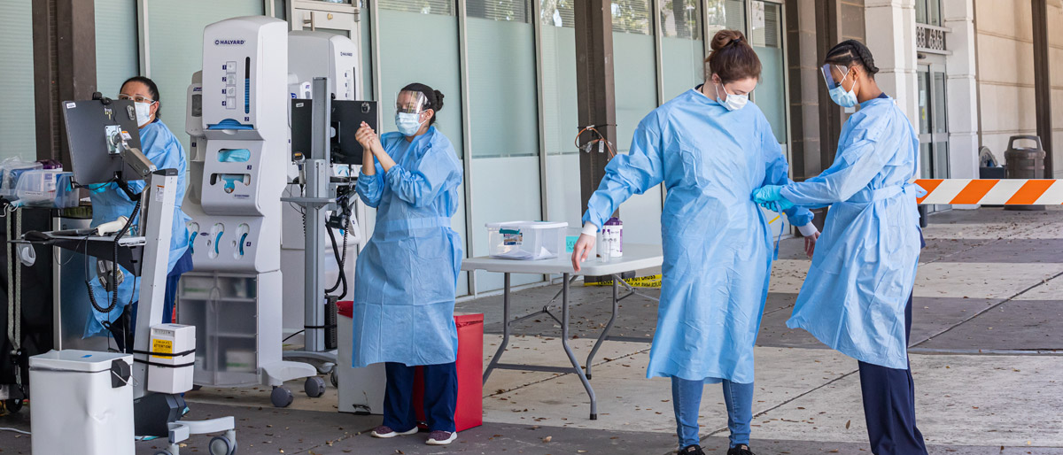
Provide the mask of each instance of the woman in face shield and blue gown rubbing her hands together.
POLYGON ((358 254, 352 365, 385 363, 384 422, 372 436, 417 433, 414 372, 423 367, 429 445, 457 438, 457 327, 454 297, 461 238, 451 229, 461 166, 433 125, 443 94, 407 85, 395 102, 399 131, 377 137, 362 123, 365 149, 357 191, 376 208, 376 228, 358 254))

